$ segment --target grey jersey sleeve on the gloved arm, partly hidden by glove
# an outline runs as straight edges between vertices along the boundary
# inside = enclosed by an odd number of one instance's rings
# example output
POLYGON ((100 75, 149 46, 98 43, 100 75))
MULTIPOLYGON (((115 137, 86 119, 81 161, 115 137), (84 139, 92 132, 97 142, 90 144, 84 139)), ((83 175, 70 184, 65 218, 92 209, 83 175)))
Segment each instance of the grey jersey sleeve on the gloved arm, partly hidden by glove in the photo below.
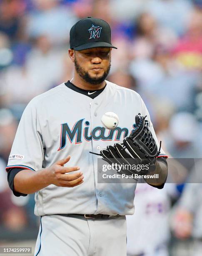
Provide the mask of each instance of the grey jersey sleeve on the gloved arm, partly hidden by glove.
MULTIPOLYGON (((159 141, 158 141, 158 139, 157 139, 157 136, 156 136, 156 133, 155 133, 155 130, 154 130, 154 126, 153 126, 152 121, 151 121, 151 119, 150 119, 150 113, 149 113, 149 111, 147 110, 147 107, 146 107, 146 105, 145 105, 145 102, 142 100, 141 97, 140 97, 140 101, 141 101, 141 106, 142 106, 142 113, 140 113, 140 114, 143 115, 143 116, 147 115, 146 120, 149 121, 149 129, 150 129, 150 131, 151 131, 151 133, 152 133, 153 138, 154 138, 155 141, 156 141, 157 147, 160 148, 160 143, 159 143, 159 141)), ((165 158, 168 157, 167 154, 165 154, 165 152, 164 152, 164 150, 162 149, 162 147, 161 147, 161 149, 160 149, 160 155, 159 155, 158 157, 165 157, 165 158)))

